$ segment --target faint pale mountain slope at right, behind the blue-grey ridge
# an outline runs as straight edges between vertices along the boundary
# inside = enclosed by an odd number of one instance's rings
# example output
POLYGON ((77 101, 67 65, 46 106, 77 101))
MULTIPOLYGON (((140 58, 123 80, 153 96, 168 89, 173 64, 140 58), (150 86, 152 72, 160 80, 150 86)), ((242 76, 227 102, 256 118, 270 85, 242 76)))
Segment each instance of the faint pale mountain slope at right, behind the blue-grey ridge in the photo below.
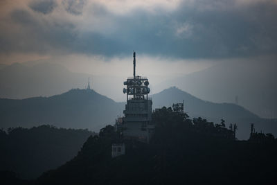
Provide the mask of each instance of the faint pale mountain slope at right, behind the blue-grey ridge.
POLYGON ((164 80, 156 89, 176 86, 204 100, 238 103, 262 118, 277 118, 276 60, 220 62, 179 78, 164 80), (262 65, 261 65, 262 64, 262 65), (237 101, 235 100, 237 97, 237 101))

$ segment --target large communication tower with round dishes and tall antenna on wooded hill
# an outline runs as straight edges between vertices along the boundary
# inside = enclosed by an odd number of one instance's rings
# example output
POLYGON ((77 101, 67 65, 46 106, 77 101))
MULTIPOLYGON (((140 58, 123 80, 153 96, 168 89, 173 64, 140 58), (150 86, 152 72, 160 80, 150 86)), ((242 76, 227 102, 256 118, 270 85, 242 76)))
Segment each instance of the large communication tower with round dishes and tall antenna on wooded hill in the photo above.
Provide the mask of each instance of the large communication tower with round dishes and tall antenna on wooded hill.
POLYGON ((148 143, 154 125, 152 124, 152 100, 148 97, 150 88, 148 78, 136 76, 136 52, 133 53, 134 74, 127 78, 123 85, 127 104, 123 111, 123 123, 117 125, 125 138, 136 139, 148 143))

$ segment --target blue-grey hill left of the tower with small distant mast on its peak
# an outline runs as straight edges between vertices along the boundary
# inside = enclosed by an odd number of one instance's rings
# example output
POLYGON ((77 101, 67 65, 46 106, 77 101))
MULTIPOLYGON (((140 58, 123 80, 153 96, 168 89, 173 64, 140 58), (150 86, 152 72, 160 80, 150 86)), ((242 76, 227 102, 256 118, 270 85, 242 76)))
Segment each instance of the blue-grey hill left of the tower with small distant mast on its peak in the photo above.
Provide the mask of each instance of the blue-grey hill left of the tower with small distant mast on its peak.
POLYGON ((96 91, 71 89, 48 98, 0 99, 0 127, 33 127, 51 124, 57 127, 88 128, 98 132, 123 111, 124 103, 96 91))

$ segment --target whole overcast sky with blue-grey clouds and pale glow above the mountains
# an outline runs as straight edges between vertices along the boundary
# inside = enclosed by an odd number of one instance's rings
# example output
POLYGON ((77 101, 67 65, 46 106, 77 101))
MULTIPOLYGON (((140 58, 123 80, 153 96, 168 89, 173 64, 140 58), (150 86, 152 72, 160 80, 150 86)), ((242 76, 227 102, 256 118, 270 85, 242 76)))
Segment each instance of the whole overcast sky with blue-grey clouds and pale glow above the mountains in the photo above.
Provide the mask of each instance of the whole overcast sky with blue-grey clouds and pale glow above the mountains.
POLYGON ((76 72, 132 76, 136 50, 140 75, 177 76, 277 55, 276 0, 2 0, 0 6, 2 64, 47 60, 76 72))

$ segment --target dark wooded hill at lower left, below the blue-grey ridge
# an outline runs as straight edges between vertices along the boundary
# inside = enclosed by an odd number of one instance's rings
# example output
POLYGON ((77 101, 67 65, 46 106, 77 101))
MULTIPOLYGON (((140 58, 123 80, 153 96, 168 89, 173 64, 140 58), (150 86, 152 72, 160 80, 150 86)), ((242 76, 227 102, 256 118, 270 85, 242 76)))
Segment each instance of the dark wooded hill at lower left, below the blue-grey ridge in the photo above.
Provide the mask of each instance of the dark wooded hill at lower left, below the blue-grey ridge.
POLYGON ((30 129, 0 130, 0 170, 12 170, 21 178, 36 178, 61 166, 95 133, 41 125, 30 129))

